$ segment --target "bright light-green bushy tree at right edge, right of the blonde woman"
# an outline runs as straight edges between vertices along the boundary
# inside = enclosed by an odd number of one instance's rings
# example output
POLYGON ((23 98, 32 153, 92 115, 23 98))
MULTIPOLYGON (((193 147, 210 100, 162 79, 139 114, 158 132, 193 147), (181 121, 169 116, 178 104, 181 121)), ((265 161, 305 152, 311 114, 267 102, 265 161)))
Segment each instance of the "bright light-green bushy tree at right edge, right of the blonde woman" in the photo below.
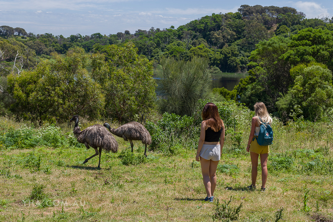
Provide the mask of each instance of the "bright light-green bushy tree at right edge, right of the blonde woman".
POLYGON ((276 106, 283 117, 321 119, 333 108, 332 72, 320 63, 299 64, 290 70, 294 83, 276 106))

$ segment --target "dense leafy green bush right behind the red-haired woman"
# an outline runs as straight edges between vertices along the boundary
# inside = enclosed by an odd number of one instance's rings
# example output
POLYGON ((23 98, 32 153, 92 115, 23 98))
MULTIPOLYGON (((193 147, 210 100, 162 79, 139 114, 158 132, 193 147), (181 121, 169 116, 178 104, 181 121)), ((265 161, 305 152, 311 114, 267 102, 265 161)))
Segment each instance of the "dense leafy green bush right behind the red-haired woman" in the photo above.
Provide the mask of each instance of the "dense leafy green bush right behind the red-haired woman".
MULTIPOLYGON (((148 121, 145 126, 152 136, 151 148, 168 154, 173 153, 172 149, 181 148, 181 146, 186 149, 195 149, 200 136, 201 111, 208 102, 207 100, 199 100, 199 105, 192 116, 180 116, 165 112, 159 121, 148 121)), ((232 133, 234 135, 237 121, 233 112, 235 110, 243 110, 242 105, 228 101, 216 103, 216 106, 220 117, 224 121, 225 134, 232 133)), ((241 134, 241 132, 236 133, 237 136, 234 138, 238 146, 242 144, 241 134)))

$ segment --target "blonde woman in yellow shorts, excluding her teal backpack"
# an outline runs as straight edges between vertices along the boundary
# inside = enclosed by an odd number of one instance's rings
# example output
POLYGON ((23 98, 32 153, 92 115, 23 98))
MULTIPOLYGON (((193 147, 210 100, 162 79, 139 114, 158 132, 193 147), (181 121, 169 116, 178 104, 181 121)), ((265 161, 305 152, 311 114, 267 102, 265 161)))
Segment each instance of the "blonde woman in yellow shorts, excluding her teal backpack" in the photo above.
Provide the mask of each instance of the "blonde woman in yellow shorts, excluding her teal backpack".
POLYGON ((267 157, 269 153, 269 145, 260 146, 257 143, 256 136, 259 134, 260 124, 262 122, 269 122, 272 125, 272 118, 269 116, 266 106, 262 102, 258 102, 254 104, 254 112, 255 116, 252 117, 251 122, 251 132, 249 135, 249 139, 247 142, 246 151, 250 152, 251 163, 252 163, 252 171, 251 171, 251 185, 248 186, 248 189, 255 190, 257 174, 258 174, 258 157, 260 155, 260 163, 261 163, 261 191, 265 191, 265 185, 267 181, 267 157))

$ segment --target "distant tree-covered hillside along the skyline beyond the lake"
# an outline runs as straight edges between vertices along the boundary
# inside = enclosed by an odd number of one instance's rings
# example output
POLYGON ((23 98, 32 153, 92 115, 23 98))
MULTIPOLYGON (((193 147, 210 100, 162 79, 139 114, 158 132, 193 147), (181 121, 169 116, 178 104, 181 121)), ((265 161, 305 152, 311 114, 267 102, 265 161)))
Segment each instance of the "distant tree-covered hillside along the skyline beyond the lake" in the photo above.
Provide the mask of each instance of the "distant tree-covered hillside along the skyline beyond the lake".
POLYGON ((138 53, 150 60, 159 61, 162 55, 181 59, 202 56, 222 72, 246 72, 250 52, 260 41, 273 36, 294 35, 308 27, 333 30, 332 22, 328 18, 306 19, 304 13, 290 7, 242 5, 236 13, 204 16, 177 29, 173 26, 163 30, 152 27, 150 30, 139 29, 134 34, 126 30, 108 36, 94 33, 64 38, 50 33, 34 35, 23 28, 1 26, 0 36, 14 38, 42 58, 49 58, 52 52, 65 54, 74 46, 82 47, 86 52, 103 52, 108 45, 133 41, 138 53))

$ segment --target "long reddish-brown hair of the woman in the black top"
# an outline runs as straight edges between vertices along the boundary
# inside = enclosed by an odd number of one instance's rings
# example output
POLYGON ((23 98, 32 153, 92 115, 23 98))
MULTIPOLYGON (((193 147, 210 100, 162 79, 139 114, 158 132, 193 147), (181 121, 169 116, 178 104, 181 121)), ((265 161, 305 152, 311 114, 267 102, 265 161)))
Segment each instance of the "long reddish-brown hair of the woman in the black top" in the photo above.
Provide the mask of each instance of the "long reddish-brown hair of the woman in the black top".
POLYGON ((207 103, 201 112, 202 120, 207 120, 206 123, 214 132, 219 131, 224 127, 224 123, 218 114, 217 106, 213 103, 207 103))

